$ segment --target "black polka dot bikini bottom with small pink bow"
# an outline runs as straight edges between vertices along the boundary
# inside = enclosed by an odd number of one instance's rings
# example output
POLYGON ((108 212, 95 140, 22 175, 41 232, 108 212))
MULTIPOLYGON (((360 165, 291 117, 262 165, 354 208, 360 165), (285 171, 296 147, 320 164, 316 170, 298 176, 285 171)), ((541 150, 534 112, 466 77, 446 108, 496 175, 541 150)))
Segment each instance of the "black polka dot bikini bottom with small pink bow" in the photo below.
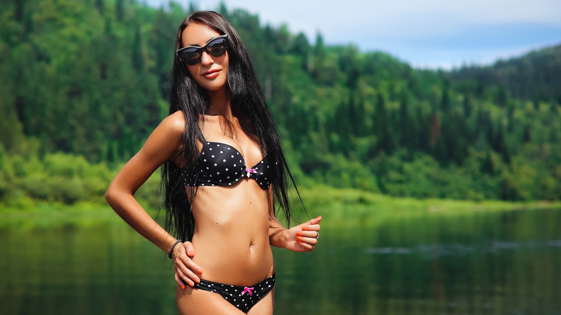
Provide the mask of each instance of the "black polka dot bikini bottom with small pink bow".
POLYGON ((195 288, 218 293, 237 309, 247 313, 247 311, 273 289, 274 285, 275 274, 258 284, 250 286, 229 285, 201 279, 201 282, 197 283, 195 288))

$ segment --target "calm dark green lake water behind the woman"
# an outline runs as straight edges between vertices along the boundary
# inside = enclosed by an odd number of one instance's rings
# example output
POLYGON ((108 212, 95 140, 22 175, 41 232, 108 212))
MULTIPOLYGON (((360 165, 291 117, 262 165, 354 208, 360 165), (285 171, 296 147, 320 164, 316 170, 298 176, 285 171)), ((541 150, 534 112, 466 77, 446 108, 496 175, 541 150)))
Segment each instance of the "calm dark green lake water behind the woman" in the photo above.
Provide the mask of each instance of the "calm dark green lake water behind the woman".
MULTIPOLYGON (((342 213, 274 250, 275 314, 561 314, 559 210, 342 213)), ((176 314, 172 275, 111 212, 0 215, 1 314, 176 314)))

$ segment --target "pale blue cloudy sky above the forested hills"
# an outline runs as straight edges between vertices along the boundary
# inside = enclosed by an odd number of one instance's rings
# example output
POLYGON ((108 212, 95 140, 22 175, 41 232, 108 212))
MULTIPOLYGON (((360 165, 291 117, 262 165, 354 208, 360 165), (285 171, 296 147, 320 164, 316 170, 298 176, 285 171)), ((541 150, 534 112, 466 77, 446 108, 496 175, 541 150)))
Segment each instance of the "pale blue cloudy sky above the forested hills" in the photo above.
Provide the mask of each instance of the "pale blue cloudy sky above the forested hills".
MULTIPOLYGON (((144 0, 159 7, 167 0, 144 0)), ((176 0, 188 7, 188 1, 176 0)), ((193 1, 216 10, 219 1, 193 1)), ((490 64, 561 44, 561 0, 227 0, 261 24, 287 24, 314 43, 382 50, 417 68, 490 64)))

